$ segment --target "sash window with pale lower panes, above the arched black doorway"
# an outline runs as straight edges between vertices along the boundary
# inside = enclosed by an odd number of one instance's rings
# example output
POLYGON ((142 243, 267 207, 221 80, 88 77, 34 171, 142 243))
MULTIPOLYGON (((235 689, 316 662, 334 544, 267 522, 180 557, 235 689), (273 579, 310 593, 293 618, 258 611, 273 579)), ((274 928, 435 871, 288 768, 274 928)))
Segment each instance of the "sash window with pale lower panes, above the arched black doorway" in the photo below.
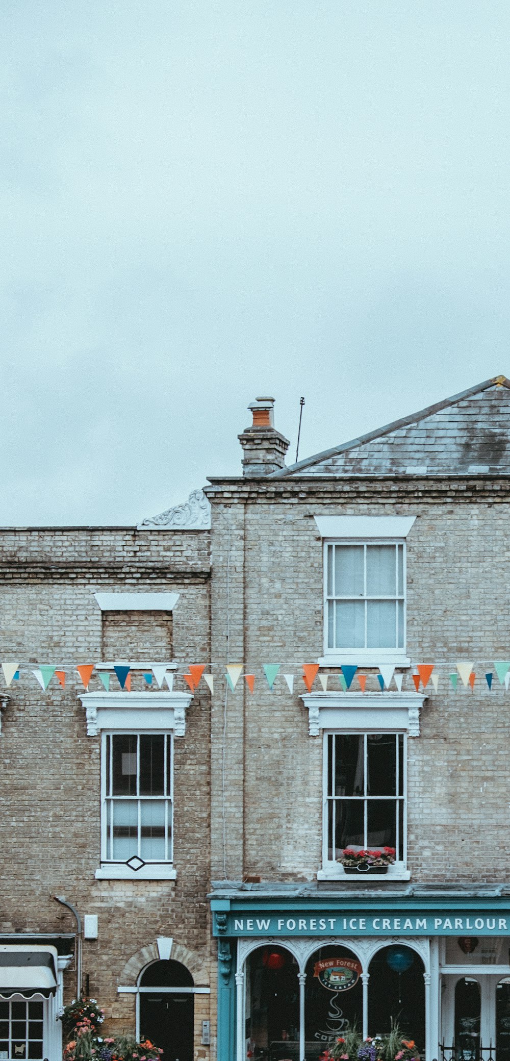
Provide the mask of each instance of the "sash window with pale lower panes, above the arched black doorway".
POLYGON ((103 733, 103 860, 172 862, 171 733, 103 733))

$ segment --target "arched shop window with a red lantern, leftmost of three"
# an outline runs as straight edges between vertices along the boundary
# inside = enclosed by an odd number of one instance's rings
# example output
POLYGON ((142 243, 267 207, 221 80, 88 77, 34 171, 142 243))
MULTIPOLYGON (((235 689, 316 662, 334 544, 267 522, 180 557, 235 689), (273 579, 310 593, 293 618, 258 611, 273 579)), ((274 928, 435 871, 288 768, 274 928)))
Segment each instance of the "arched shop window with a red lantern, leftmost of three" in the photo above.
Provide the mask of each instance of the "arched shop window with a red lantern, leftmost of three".
MULTIPOLYGON (((261 946, 246 960, 246 1051, 271 1061, 299 1043, 298 963, 283 946, 261 946)), ((292 1054, 292 1049, 291 1049, 292 1054)), ((294 1055, 296 1051, 294 1050, 294 1055)))

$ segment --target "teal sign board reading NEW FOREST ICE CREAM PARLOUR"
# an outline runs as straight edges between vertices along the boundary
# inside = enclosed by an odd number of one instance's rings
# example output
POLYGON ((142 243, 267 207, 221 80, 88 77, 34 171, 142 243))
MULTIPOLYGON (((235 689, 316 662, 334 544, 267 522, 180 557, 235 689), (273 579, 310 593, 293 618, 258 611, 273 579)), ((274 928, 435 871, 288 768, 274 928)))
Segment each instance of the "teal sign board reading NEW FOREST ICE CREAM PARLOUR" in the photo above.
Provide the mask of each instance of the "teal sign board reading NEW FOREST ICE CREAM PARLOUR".
MULTIPOLYGON (((330 911, 331 912, 331 911, 330 911)), ((355 915, 299 917, 277 914, 246 917, 244 912, 216 915, 215 936, 502 936, 510 933, 510 911, 368 910, 355 915), (221 918, 221 922, 216 920, 221 918)))

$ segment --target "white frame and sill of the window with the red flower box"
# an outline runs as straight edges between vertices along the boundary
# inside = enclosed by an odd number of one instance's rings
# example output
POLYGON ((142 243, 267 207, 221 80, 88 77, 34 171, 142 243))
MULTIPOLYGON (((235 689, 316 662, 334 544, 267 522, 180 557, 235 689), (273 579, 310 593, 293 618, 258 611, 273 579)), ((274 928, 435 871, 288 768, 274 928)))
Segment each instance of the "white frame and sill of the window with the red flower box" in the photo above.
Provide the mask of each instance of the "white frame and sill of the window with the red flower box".
MULTIPOLYGON (((366 745, 365 745, 366 748, 366 745)), ((366 754, 366 751, 365 751, 366 754)), ((366 770, 366 763, 365 763, 366 770)), ((365 775, 366 776, 366 775, 365 775)), ((397 799, 398 797, 395 797, 397 799)), ((377 797, 373 797, 377 799, 377 797)), ((370 881, 408 881, 410 879, 410 872, 407 870, 407 733, 403 729, 376 729, 374 727, 364 727, 363 729, 328 729, 323 731, 322 734, 322 866, 317 873, 318 881, 346 881, 350 884, 356 885, 370 881), (404 749, 403 749, 403 795, 402 802, 404 804, 403 814, 403 837, 402 837, 402 862, 395 862, 393 866, 388 867, 387 873, 370 873, 368 875, 359 873, 355 875, 354 873, 346 873, 344 867, 337 863, 332 862, 329 858, 329 843, 328 843, 328 807, 329 807, 329 795, 328 795, 328 738, 330 736, 337 735, 350 735, 355 736, 366 736, 376 733, 386 733, 392 736, 398 734, 403 735, 404 749)))

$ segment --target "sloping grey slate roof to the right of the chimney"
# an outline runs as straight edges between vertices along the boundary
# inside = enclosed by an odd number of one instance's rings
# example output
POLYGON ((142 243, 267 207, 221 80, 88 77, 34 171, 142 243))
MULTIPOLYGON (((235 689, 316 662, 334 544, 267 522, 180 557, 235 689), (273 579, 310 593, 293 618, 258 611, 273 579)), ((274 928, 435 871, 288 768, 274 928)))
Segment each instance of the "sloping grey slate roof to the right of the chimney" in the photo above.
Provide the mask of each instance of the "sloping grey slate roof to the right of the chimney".
POLYGON ((486 380, 268 479, 393 474, 510 474, 510 380, 486 380))

